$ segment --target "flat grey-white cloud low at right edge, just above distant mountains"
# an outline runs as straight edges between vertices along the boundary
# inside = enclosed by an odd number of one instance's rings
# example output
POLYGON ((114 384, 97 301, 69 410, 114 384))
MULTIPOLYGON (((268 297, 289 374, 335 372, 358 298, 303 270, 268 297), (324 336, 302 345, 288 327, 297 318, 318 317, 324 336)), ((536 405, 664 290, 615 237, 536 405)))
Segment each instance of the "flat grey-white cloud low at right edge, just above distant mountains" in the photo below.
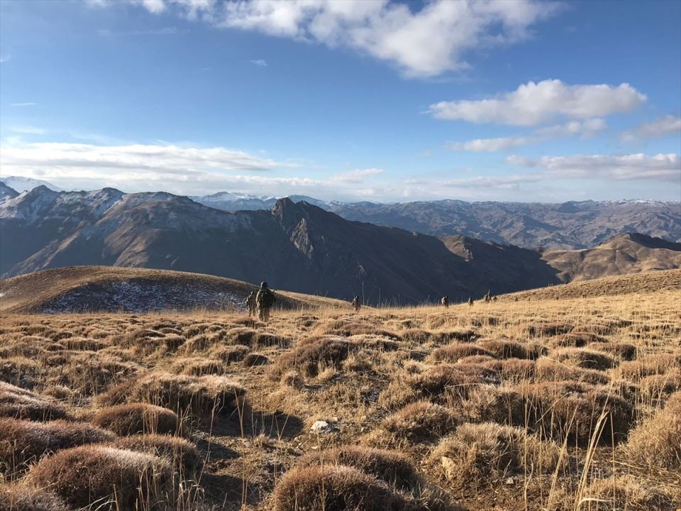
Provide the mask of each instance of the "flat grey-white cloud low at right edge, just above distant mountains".
POLYGON ((681 180, 679 155, 642 153, 631 155, 570 155, 524 158, 511 155, 506 163, 544 169, 545 177, 556 179, 681 180))

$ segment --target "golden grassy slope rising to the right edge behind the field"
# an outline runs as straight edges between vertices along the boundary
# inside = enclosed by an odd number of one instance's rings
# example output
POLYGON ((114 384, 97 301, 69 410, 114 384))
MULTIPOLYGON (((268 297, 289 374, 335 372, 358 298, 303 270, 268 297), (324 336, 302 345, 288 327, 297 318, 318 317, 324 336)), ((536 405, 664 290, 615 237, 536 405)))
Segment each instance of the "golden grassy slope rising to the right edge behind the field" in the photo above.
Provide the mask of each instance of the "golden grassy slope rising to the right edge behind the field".
POLYGON ((630 275, 570 282, 569 284, 541 287, 502 295, 499 300, 566 300, 597 296, 631 295, 658 291, 681 292, 681 269, 647 271, 630 275))

